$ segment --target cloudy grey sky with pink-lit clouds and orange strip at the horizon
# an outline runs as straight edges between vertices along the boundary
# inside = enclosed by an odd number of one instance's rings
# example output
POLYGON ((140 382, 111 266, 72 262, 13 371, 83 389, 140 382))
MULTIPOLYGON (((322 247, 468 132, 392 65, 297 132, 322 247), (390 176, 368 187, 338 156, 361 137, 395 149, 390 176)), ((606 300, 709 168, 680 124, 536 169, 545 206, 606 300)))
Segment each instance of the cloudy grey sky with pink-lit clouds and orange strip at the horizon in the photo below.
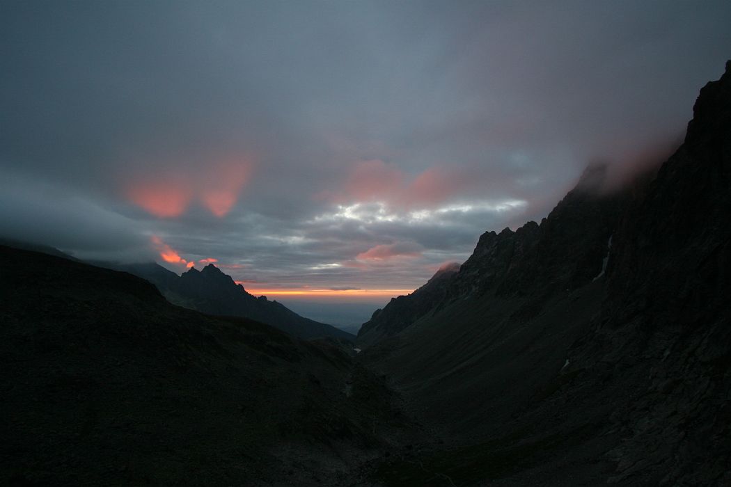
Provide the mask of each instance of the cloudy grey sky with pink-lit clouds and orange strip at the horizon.
POLYGON ((0 236, 406 294, 681 140, 728 1, 0 0, 0 236))

